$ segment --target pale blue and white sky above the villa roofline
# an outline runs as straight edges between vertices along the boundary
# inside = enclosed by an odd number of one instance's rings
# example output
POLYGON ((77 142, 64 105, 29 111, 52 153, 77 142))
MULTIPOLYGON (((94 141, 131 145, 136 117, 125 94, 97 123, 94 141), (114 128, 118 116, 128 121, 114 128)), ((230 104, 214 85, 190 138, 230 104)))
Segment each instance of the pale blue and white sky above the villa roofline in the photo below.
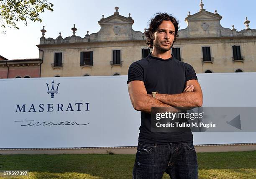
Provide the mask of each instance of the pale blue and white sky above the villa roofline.
MULTIPOLYGON (((7 59, 38 58, 38 49, 41 29, 45 26, 46 38, 56 38, 61 32, 63 38, 72 35, 71 28, 76 24, 77 36, 84 37, 86 31, 95 33, 100 30, 97 21, 113 15, 115 6, 119 7, 119 14, 131 17, 134 20, 133 29, 144 31, 148 20, 154 13, 166 12, 174 15, 179 20, 180 29, 186 28, 184 19, 190 14, 199 12, 200 0, 49 0, 54 4, 54 11, 45 11, 41 14, 42 23, 28 22, 28 26, 19 22, 19 30, 6 28, 6 34, 0 34, 0 55, 7 59)), ((245 18, 251 21, 250 28, 256 29, 255 0, 203 0, 204 9, 214 13, 217 10, 222 16, 220 24, 225 28, 238 31, 245 29, 245 18)), ((0 29, 1 31, 3 29, 0 29)))

